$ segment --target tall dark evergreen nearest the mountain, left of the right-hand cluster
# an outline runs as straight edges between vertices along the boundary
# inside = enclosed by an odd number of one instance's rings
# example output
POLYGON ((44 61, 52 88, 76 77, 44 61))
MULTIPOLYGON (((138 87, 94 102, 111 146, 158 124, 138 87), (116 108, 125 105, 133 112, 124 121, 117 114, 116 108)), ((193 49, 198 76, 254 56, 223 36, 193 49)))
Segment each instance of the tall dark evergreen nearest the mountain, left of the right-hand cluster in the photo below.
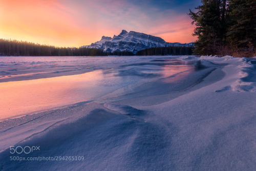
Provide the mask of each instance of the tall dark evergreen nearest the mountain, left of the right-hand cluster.
POLYGON ((188 15, 195 24, 193 36, 198 36, 195 41, 195 54, 218 54, 223 46, 225 31, 226 0, 202 0, 197 12, 189 9, 188 15))

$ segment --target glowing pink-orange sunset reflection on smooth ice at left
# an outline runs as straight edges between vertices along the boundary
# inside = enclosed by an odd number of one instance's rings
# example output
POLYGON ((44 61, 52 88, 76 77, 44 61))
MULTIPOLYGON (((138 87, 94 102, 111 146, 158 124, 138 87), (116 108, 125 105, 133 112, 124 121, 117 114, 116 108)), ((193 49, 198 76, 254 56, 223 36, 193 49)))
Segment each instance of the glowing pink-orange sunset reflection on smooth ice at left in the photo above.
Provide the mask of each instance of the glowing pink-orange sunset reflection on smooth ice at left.
POLYGON ((101 79, 102 71, 99 70, 71 76, 2 82, 0 120, 91 100, 97 95, 94 87, 101 79))

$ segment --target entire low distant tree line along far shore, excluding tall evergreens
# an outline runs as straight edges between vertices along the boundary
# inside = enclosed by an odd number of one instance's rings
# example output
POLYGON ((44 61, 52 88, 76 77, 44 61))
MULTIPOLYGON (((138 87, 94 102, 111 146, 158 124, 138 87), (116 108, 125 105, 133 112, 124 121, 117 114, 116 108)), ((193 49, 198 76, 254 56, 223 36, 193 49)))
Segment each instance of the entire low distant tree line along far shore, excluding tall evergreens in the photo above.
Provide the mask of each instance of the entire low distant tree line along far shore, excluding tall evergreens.
POLYGON ((133 55, 191 55, 193 47, 161 47, 132 52, 103 52, 92 48, 59 48, 33 42, 0 39, 1 56, 133 56, 133 55))

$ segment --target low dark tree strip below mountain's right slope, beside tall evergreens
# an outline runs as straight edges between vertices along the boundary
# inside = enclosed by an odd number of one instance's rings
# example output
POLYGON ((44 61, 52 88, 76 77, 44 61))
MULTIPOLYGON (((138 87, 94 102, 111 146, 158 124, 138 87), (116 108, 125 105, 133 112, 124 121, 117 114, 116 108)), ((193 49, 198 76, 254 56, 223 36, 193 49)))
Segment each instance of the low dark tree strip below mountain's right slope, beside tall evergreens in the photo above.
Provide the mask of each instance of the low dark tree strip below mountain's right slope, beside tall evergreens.
POLYGON ((138 51, 136 55, 147 56, 147 55, 191 55, 194 47, 160 47, 160 48, 149 48, 138 51))

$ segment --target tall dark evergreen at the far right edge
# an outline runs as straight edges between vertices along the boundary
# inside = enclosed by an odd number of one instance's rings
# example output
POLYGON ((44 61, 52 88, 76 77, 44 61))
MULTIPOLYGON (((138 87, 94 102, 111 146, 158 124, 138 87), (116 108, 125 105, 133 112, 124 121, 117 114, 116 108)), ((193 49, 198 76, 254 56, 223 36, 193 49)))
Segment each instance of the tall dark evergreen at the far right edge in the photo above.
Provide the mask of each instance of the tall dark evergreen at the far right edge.
POLYGON ((230 27, 227 39, 238 53, 253 52, 256 45, 256 2, 252 0, 230 0, 230 27))

